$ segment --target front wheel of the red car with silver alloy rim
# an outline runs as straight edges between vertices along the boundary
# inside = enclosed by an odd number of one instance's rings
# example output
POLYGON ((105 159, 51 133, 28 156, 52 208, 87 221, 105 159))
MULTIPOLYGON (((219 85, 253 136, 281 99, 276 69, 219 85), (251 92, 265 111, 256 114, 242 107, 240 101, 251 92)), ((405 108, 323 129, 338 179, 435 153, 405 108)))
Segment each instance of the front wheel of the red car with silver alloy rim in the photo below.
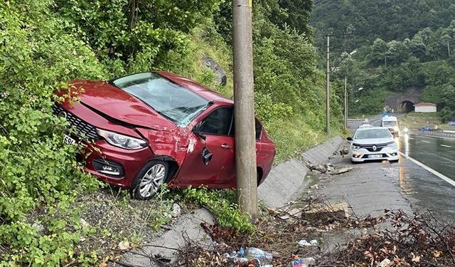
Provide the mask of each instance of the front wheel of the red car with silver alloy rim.
POLYGON ((137 174, 130 192, 134 199, 149 199, 153 197, 167 182, 169 165, 162 160, 152 160, 145 164, 137 174))

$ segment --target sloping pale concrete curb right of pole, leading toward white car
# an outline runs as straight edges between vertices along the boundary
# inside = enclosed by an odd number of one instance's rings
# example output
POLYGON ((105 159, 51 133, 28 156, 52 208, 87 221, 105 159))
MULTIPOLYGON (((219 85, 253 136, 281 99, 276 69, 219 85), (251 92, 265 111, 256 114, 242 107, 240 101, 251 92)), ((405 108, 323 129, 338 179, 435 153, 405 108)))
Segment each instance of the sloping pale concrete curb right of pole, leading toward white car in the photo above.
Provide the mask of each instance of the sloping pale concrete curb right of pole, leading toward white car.
POLYGON ((277 209, 299 197, 306 185, 304 178, 310 172, 305 162, 314 165, 327 162, 328 157, 338 150, 342 142, 343 139, 340 136, 333 137, 302 153, 303 159, 289 159, 274 166, 269 177, 257 189, 259 199, 267 206, 277 209))

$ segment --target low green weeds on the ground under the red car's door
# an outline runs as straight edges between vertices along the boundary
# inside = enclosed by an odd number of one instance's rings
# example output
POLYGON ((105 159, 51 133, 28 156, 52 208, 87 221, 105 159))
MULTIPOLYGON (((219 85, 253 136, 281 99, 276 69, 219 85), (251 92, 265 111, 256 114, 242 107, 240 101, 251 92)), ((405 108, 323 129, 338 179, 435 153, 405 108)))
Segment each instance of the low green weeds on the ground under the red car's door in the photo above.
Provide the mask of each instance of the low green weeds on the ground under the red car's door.
POLYGON ((235 204, 235 191, 188 187, 183 190, 183 199, 206 206, 215 214, 216 221, 220 226, 234 228, 240 232, 255 230, 255 226, 251 224, 250 216, 242 214, 235 204))

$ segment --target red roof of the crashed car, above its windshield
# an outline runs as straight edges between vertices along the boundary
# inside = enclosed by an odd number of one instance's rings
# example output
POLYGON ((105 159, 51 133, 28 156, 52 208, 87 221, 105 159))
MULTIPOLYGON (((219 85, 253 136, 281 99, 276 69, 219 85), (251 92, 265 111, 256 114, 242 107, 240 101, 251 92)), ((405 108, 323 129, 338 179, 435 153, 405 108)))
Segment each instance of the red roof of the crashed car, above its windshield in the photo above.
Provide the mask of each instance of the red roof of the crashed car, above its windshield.
POLYGON ((167 78, 168 80, 171 80, 173 83, 177 83, 178 85, 181 85, 184 88, 191 90, 193 93, 202 96, 208 101, 225 103, 228 105, 234 104, 234 101, 230 100, 229 98, 226 98, 224 95, 221 95, 218 92, 215 92, 214 90, 205 87, 204 85, 201 85, 200 83, 196 83, 194 80, 190 80, 175 73, 168 73, 166 71, 161 70, 156 70, 153 72, 163 76, 164 78, 167 78))

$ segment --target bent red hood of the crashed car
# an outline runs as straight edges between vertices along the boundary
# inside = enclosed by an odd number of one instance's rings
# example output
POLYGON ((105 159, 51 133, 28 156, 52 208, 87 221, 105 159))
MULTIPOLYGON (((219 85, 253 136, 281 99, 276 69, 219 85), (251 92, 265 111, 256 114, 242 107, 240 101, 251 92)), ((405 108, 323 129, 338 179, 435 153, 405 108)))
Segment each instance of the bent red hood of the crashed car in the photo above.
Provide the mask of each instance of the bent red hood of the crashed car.
MULTIPOLYGON (((70 83, 80 102, 114 120, 155 130, 173 130, 176 125, 124 90, 103 81, 77 80, 70 83)), ((65 94, 68 90, 59 93, 65 94)))

